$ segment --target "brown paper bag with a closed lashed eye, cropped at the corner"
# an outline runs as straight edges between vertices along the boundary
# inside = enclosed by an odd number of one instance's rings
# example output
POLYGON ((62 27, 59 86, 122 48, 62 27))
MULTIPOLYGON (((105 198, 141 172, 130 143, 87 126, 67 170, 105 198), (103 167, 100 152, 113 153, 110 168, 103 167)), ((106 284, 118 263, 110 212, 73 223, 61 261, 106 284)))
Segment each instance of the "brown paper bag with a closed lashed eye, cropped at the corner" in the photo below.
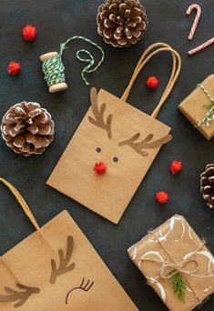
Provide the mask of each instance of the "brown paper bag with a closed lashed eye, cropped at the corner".
POLYGON ((0 310, 66 311, 138 308, 66 211, 39 227, 15 187, 36 232, 0 257, 0 310))

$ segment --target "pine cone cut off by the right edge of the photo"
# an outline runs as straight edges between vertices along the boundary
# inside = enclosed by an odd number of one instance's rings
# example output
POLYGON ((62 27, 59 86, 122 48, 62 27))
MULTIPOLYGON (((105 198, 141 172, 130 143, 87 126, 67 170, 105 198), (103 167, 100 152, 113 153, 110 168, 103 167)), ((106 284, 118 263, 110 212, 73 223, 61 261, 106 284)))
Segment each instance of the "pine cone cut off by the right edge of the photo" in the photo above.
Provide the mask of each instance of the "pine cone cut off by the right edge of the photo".
POLYGON ((214 164, 206 166, 206 171, 200 178, 200 192, 209 208, 214 208, 214 164))

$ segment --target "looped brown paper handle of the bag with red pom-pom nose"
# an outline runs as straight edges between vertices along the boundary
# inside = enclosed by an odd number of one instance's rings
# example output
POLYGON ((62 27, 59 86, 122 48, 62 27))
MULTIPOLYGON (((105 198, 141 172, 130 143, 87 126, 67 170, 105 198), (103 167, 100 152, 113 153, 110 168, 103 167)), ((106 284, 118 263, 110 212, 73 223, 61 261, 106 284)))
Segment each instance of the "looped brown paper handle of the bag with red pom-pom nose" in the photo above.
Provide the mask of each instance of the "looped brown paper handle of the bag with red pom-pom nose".
POLYGON ((181 58, 177 51, 175 51, 171 46, 163 44, 163 43, 157 43, 154 45, 150 45, 148 49, 143 53, 143 55, 140 57, 138 61, 138 65, 136 66, 134 73, 131 77, 131 80, 129 84, 127 85, 127 89, 122 95, 121 99, 123 101, 127 100, 127 96, 129 95, 132 85, 134 84, 135 80, 138 77, 138 74, 143 69, 143 67, 148 63, 148 61, 155 55, 157 55, 160 52, 170 52, 172 55, 173 65, 172 65, 172 71, 171 75, 168 81, 168 85, 164 91, 164 94, 160 98, 159 104, 151 114, 152 117, 156 118, 158 115, 158 112, 161 108, 161 106, 165 103, 166 99, 168 98, 168 95, 170 94, 173 86, 175 85, 178 75, 180 73, 181 69, 181 58), (155 49, 153 52, 152 50, 155 49))

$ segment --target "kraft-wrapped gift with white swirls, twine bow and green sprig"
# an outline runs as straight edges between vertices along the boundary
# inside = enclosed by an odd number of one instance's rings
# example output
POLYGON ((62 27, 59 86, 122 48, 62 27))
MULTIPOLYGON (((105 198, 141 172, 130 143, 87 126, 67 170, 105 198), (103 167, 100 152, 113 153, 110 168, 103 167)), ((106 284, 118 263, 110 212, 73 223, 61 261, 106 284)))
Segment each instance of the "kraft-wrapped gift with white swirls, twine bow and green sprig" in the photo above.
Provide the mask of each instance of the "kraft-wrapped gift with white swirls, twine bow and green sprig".
POLYGON ((214 292, 214 257, 183 216, 150 231, 128 254, 171 311, 192 310, 214 292))

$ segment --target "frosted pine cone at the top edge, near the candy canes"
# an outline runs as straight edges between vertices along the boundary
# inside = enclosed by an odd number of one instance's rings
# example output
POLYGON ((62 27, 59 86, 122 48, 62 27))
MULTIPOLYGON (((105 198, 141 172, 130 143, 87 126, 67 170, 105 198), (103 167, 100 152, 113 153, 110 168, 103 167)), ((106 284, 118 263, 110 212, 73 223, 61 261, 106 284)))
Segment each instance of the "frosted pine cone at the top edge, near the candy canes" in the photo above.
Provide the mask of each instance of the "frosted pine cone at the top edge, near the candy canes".
POLYGON ((138 0, 107 0, 100 5, 97 30, 107 44, 130 46, 145 34, 148 18, 138 0))

